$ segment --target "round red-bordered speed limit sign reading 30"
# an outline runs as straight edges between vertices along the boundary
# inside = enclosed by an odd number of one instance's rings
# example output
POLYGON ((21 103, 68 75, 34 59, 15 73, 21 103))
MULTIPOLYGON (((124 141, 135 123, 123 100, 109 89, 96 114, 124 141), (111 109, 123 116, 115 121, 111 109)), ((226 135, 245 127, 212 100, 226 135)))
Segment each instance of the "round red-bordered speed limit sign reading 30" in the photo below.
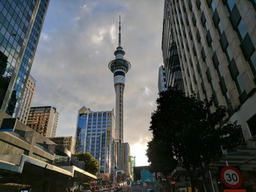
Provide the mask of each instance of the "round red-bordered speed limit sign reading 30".
POLYGON ((242 185, 242 174, 234 166, 225 166, 221 171, 222 182, 231 189, 242 185))

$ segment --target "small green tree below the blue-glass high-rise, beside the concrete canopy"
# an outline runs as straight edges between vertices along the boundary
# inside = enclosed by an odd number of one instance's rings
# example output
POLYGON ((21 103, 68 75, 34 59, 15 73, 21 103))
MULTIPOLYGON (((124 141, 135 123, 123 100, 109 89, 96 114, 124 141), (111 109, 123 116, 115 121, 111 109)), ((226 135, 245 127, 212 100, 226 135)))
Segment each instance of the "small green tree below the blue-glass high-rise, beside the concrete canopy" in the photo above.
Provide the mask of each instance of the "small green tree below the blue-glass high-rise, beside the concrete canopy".
POLYGON ((79 161, 85 162, 85 169, 90 174, 97 175, 98 173, 98 161, 90 153, 78 153, 74 154, 78 157, 79 161))

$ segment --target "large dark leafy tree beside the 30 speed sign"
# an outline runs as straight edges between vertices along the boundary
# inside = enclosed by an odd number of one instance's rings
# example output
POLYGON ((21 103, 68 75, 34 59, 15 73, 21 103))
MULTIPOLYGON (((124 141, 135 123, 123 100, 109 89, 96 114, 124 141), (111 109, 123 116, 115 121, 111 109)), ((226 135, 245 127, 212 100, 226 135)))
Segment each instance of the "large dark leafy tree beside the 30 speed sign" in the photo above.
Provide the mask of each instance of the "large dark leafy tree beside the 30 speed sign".
MULTIPOLYGON (((220 126, 226 117, 225 106, 217 106, 211 112, 212 101, 200 101, 194 95, 186 97, 182 91, 171 87, 160 93, 157 104, 150 122, 154 135, 152 141, 160 140, 165 144, 162 147, 168 146, 166 154, 182 159, 192 186, 198 183, 194 170, 199 169, 198 174, 206 181, 205 167, 220 155, 221 146, 230 150, 241 141, 242 130, 237 123, 228 122, 220 126)), ((148 151, 152 148, 150 145, 148 151)), ((168 155, 166 159, 170 158, 168 155)))

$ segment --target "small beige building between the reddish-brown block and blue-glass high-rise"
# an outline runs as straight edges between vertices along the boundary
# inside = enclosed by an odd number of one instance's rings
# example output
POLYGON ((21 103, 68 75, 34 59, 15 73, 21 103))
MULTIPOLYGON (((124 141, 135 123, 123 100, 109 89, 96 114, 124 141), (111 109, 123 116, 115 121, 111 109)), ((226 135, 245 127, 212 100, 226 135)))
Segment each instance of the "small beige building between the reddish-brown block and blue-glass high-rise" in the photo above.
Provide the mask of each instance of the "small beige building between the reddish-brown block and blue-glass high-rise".
POLYGON ((69 150, 71 154, 74 154, 74 137, 54 137, 49 139, 50 141, 55 142, 58 146, 62 146, 66 150, 69 150))

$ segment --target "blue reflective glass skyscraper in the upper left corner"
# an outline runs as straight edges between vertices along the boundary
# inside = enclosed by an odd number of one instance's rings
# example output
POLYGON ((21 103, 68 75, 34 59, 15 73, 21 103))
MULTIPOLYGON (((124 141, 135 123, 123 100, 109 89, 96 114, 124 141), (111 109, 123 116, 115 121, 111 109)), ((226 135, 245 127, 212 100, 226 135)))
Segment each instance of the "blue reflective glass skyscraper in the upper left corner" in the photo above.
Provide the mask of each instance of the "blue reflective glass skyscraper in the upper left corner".
POLYGON ((22 98, 49 2, 0 2, 0 109, 14 118, 21 116, 22 98))

